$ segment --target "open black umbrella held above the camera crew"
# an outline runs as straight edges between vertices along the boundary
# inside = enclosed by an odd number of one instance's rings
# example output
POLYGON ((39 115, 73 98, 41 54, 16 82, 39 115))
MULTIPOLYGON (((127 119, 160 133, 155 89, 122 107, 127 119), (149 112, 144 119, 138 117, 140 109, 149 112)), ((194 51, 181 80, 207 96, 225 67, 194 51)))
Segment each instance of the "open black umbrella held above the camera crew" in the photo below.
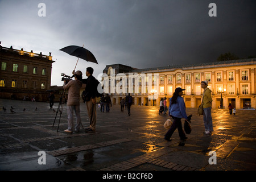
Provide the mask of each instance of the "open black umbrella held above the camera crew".
MULTIPOLYGON (((78 57, 77 62, 79 60, 79 58, 84 59, 86 61, 92 62, 92 63, 96 63, 98 64, 96 58, 94 57, 93 53, 90 52, 88 49, 85 49, 84 46, 80 47, 80 46, 67 46, 64 47, 62 49, 60 49, 60 51, 66 52, 69 55, 72 56, 76 56, 78 57)), ((76 62, 76 65, 77 65, 76 62)), ((75 67, 76 69, 76 67, 75 67)))

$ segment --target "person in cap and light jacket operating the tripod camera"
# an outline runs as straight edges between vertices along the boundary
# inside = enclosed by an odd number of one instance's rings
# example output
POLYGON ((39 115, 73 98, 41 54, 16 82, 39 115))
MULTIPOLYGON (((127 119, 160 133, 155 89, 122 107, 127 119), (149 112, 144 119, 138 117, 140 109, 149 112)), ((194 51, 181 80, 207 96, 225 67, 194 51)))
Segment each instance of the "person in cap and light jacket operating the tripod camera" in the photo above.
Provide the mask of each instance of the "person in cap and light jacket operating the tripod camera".
POLYGON ((73 133, 73 111, 76 113, 75 132, 79 132, 81 125, 80 118, 80 88, 82 87, 82 72, 73 72, 75 80, 64 81, 63 88, 68 89, 68 129, 64 130, 66 133, 73 133))

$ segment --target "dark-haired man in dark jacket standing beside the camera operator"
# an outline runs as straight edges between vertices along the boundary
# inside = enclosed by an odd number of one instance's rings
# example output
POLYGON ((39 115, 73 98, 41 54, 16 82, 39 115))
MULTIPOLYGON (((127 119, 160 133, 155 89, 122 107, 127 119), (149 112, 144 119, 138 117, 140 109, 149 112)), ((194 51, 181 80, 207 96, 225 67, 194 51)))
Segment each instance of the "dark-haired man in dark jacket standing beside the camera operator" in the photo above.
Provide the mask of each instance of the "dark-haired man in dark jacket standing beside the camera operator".
POLYGON ((86 79, 82 80, 85 86, 85 97, 86 97, 86 109, 90 119, 90 127, 85 129, 85 133, 93 133, 96 132, 96 92, 97 85, 96 78, 93 76, 93 68, 86 68, 86 79))

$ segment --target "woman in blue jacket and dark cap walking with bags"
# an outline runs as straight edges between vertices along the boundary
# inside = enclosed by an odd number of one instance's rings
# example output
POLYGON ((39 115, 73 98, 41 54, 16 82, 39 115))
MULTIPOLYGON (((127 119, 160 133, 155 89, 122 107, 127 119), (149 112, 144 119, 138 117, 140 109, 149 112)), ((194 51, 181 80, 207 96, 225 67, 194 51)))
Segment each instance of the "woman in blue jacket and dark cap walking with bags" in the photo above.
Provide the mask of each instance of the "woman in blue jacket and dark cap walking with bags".
POLYGON ((188 121, 184 98, 181 97, 183 95, 183 90, 185 89, 181 89, 180 87, 176 88, 174 96, 170 98, 169 116, 174 119, 174 122, 172 122, 172 126, 167 131, 166 135, 164 135, 164 139, 167 141, 171 141, 170 138, 176 129, 179 131, 180 140, 187 139, 181 124, 181 118, 185 118, 185 121, 188 121))

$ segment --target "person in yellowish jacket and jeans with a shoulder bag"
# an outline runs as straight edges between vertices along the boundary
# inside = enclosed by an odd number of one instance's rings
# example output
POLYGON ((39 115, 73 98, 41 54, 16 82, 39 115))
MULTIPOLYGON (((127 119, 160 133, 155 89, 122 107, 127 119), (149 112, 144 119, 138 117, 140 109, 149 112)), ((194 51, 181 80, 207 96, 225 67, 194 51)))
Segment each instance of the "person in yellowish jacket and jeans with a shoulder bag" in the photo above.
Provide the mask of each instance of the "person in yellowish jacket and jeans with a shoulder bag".
POLYGON ((204 127, 205 127, 205 131, 204 134, 210 135, 212 134, 213 131, 213 127, 212 127, 212 96, 211 96, 211 92, 212 90, 210 90, 209 88, 207 88, 208 86, 208 81, 201 81, 201 88, 204 89, 203 92, 203 109, 204 109, 204 127))

